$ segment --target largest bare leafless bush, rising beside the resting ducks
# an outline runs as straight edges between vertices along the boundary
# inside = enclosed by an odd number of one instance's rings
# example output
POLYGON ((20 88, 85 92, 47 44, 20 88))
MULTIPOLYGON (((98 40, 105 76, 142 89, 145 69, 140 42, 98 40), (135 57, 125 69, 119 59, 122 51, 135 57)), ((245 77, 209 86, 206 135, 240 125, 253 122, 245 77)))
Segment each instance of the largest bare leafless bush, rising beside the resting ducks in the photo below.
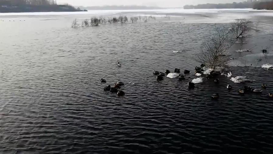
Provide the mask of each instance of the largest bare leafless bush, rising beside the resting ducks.
POLYGON ((213 37, 203 42, 197 61, 213 69, 224 66, 230 60, 226 52, 233 43, 230 33, 223 28, 216 28, 213 37))

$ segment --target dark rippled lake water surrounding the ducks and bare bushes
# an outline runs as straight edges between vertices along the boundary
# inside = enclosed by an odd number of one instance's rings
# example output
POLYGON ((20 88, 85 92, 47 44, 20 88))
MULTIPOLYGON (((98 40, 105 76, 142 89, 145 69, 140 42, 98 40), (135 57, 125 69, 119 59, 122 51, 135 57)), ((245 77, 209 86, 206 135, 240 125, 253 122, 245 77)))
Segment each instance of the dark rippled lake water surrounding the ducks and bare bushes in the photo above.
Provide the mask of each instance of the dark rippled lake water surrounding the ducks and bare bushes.
POLYGON ((0 13, 0 152, 271 154, 273 71, 260 67, 266 64, 260 53, 273 43, 272 14, 250 9, 0 13), (75 18, 119 15, 157 19, 71 28, 75 18), (219 75, 219 85, 203 79, 188 89, 187 82, 197 78, 202 41, 237 18, 258 22, 259 31, 245 40, 243 48, 251 53, 234 52, 239 44, 230 49, 236 59, 223 72, 255 81, 233 83, 219 75), (250 64, 256 67, 240 67, 250 64), (153 75, 175 68, 191 73, 185 81, 158 82, 153 75), (125 96, 103 91, 118 80, 125 82, 125 96), (237 92, 243 86, 260 89, 261 83, 268 88, 260 94, 237 92), (211 100, 213 93, 219 93, 218 101, 211 100))

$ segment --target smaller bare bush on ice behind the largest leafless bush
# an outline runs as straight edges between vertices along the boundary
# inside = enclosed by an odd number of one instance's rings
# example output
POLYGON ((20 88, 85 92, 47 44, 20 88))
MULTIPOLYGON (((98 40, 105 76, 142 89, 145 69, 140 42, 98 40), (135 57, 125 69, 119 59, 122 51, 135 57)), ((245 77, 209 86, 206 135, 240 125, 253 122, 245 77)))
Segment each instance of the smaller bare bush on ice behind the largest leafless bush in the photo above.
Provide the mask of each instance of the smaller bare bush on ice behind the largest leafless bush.
POLYGON ((250 37, 249 31, 251 30, 252 22, 247 19, 237 19, 236 22, 231 23, 230 31, 237 39, 240 37, 250 37))

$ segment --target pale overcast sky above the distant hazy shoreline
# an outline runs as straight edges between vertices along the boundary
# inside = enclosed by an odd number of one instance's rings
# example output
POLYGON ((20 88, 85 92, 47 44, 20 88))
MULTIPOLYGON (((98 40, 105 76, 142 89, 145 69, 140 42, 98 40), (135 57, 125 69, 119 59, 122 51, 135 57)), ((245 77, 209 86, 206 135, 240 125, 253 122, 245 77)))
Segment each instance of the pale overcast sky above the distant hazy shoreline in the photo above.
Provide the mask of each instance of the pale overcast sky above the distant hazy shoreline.
POLYGON ((82 6, 101 6, 101 5, 146 5, 161 7, 183 7, 187 4, 204 3, 232 3, 243 2, 244 0, 57 0, 58 4, 68 3, 71 5, 82 6))

